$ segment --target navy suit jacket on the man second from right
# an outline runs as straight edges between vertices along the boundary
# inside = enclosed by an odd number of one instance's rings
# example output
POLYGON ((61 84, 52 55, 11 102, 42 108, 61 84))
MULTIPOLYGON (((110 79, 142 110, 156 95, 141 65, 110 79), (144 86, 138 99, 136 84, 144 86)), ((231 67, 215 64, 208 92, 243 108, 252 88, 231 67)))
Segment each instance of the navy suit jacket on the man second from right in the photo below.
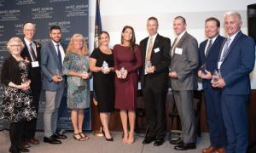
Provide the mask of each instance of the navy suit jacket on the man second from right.
MULTIPOLYGON (((209 53, 205 54, 206 46, 208 39, 204 42, 200 43, 199 47, 199 67, 201 65, 205 64, 207 71, 210 71, 212 74, 215 70, 218 70, 217 62, 218 62, 218 54, 221 51, 220 48, 222 47, 222 44, 224 42, 225 38, 218 35, 218 37, 215 39, 215 41, 212 43, 212 47, 209 50, 209 53)), ((202 85, 203 88, 210 88, 212 87, 211 79, 202 79, 202 85)))

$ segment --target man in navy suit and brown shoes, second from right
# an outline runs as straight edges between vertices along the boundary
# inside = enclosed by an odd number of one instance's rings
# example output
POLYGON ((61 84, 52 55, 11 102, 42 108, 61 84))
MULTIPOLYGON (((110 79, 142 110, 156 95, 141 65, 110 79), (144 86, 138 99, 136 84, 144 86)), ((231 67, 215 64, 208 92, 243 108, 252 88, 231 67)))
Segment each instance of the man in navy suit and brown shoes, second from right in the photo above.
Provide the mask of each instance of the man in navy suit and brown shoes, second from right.
POLYGON ((212 74, 217 70, 217 61, 220 48, 225 38, 219 35, 219 20, 208 18, 205 22, 205 34, 207 40, 201 42, 199 47, 199 71, 202 79, 207 107, 207 122, 210 130, 211 145, 203 149, 203 153, 213 151, 224 152, 226 147, 226 132, 221 113, 220 88, 213 88, 211 84, 212 74))

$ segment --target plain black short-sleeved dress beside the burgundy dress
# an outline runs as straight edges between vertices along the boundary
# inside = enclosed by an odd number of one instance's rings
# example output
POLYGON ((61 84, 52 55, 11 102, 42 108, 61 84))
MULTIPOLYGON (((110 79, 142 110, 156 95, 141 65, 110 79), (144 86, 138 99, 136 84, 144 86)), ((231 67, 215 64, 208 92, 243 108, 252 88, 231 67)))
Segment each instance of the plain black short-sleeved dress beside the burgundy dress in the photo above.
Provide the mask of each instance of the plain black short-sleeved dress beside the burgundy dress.
MULTIPOLYGON (((102 67, 103 61, 108 67, 113 67, 113 54, 104 54, 100 48, 94 49, 90 58, 96 59, 96 66, 102 67)), ((114 104, 114 73, 103 74, 101 71, 93 73, 93 88, 96 93, 98 109, 100 112, 113 111, 114 104)))

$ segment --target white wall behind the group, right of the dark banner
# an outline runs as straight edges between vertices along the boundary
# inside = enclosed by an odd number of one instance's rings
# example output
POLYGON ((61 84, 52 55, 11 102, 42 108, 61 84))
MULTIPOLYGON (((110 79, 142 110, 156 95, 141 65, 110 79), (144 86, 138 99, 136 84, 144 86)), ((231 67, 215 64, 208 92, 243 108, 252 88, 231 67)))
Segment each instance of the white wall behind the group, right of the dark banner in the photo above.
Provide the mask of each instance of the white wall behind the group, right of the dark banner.
MULTIPOLYGON (((177 15, 182 15, 187 20, 187 31, 198 42, 202 42, 205 39, 205 20, 214 16, 223 27, 223 15, 230 10, 241 14, 241 31, 247 34, 247 5, 252 3, 256 3, 256 0, 100 0, 102 29, 110 34, 110 47, 120 42, 121 30, 126 25, 135 29, 138 43, 148 37, 148 17, 155 16, 159 20, 160 35, 171 38, 173 42, 172 20, 177 15)), ((90 0, 90 51, 93 50, 95 12, 96 0, 90 0)), ((221 35, 225 36, 223 28, 221 35)), ((256 88, 256 71, 253 71, 253 76, 253 88, 256 88)))

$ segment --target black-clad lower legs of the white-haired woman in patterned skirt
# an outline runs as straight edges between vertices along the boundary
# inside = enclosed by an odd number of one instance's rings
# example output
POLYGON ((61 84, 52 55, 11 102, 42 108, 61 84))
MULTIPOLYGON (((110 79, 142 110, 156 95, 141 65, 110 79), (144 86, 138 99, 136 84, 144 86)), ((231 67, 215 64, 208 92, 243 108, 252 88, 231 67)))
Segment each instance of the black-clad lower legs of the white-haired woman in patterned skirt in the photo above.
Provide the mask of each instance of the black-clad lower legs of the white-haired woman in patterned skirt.
POLYGON ((21 148, 21 139, 24 133, 25 122, 12 122, 9 126, 9 139, 11 141, 11 146, 9 150, 12 153, 19 152, 21 148))

